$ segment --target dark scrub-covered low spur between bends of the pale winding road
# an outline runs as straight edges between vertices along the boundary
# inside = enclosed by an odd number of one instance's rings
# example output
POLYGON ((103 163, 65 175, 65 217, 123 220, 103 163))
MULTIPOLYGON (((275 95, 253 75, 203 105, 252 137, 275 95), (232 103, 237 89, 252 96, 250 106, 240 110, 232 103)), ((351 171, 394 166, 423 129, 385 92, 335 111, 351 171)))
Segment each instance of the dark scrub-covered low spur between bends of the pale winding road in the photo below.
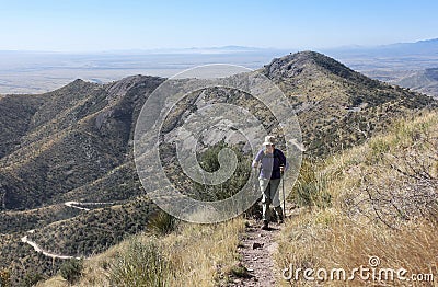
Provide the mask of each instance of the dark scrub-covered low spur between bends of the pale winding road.
POLYGON ((54 222, 28 237, 55 254, 90 256, 122 242, 129 234, 146 230, 149 218, 157 210, 149 199, 138 198, 54 222))

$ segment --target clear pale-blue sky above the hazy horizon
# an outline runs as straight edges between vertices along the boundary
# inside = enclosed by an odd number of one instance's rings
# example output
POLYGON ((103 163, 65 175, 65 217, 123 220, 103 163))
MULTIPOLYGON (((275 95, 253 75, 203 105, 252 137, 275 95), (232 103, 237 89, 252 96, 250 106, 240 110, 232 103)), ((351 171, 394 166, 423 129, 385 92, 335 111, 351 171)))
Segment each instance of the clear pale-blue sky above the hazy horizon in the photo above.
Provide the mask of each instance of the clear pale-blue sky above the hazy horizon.
POLYGON ((0 50, 325 48, 438 37, 438 1, 0 0, 0 50))

